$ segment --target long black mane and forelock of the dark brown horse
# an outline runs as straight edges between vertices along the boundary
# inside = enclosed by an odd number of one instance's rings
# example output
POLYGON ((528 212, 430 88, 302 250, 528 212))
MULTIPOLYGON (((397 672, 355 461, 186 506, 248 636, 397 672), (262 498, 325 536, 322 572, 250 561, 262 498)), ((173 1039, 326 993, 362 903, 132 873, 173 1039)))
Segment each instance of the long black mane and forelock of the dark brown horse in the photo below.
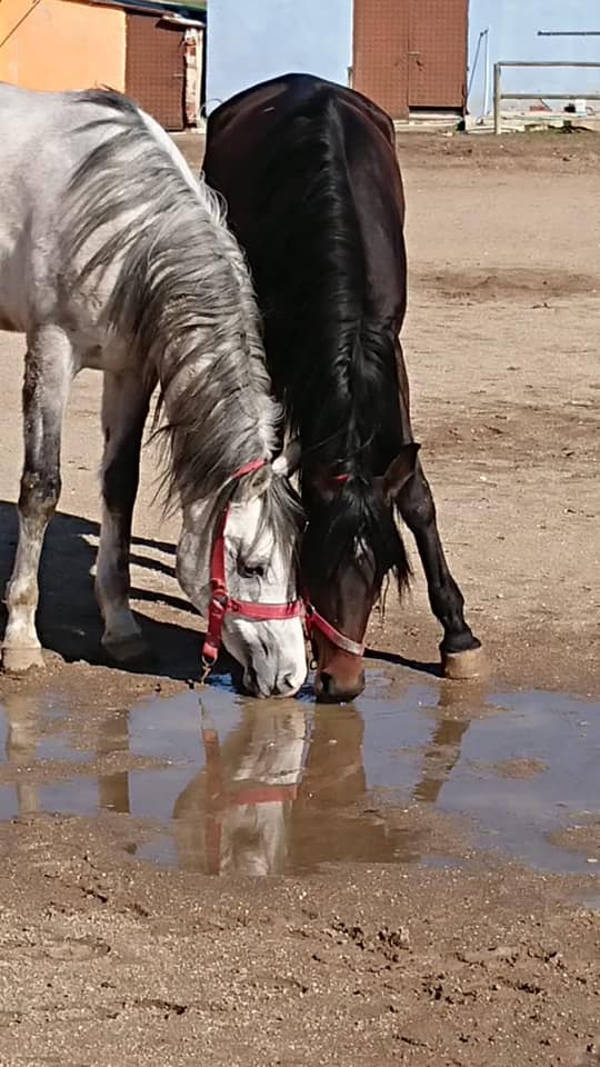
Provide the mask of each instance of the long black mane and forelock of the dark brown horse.
MULTIPOLYGON (((402 585, 408 558, 372 485, 403 443, 397 323, 378 306, 369 277, 348 147, 351 137, 360 156, 373 119, 347 106, 340 87, 303 76, 277 81, 288 92, 294 87, 296 96, 256 148, 254 199, 238 236, 263 313, 276 393, 302 441, 303 471, 318 463, 349 475, 341 499, 321 506, 314 550, 309 523, 307 555, 318 584, 362 541, 373 552, 377 579, 391 569, 402 585)), ((230 106, 220 109, 226 121, 230 106)))

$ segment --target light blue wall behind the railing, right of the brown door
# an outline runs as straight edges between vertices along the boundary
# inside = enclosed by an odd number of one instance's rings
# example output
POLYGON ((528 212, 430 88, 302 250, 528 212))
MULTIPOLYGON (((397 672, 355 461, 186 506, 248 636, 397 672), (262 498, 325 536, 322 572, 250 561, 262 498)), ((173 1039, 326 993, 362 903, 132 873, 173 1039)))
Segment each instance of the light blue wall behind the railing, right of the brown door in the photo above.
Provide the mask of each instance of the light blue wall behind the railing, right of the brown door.
MULTIPOLYGON (((600 30, 599 0, 470 0, 469 111, 480 114, 486 87, 483 41, 473 72, 479 34, 490 30, 490 68, 498 60, 600 62, 600 37, 538 37, 538 30, 600 30)), ((491 106, 491 70, 490 70, 491 106)), ((599 70, 507 70, 508 92, 600 92, 599 70)), ((519 106, 518 102, 516 104, 519 106)), ((503 104, 510 107, 510 101, 503 104)), ((600 103, 598 104, 600 107, 600 103)))

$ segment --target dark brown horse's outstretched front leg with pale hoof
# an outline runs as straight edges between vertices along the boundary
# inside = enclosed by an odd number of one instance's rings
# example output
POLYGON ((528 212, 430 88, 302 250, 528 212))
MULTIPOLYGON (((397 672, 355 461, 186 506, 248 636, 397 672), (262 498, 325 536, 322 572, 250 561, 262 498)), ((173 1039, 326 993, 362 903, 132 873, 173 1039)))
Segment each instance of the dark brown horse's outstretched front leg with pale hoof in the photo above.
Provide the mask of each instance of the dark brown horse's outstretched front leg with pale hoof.
MULTIPOLYGON (((408 377, 400 345, 397 348, 397 365, 402 438, 408 442, 414 438, 410 425, 408 377)), ((447 678, 474 678, 483 668, 481 642, 464 621, 464 598, 446 561, 436 505, 420 460, 417 460, 414 473, 399 493, 398 508, 417 541, 431 610, 443 627, 440 652, 444 675, 447 678)))

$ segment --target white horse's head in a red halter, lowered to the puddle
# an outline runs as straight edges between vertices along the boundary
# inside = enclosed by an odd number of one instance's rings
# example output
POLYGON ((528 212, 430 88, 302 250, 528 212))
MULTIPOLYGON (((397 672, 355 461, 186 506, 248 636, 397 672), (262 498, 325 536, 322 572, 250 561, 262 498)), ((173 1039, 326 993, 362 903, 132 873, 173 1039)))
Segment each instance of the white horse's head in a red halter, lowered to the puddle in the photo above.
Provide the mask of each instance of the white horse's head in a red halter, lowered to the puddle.
POLYGON ((178 546, 180 585, 208 617, 204 666, 222 644, 241 668, 242 688, 257 697, 290 697, 307 674, 297 595, 301 510, 288 466, 283 453, 241 467, 210 518, 206 501, 184 508, 178 546))

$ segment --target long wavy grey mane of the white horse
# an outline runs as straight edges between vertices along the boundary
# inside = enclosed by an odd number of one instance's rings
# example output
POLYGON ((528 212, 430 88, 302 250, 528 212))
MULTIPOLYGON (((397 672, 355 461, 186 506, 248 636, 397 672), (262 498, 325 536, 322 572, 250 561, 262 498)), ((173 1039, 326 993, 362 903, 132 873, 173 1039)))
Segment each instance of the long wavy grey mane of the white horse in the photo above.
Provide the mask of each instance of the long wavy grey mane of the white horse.
MULTIPOLYGON (((217 496, 218 509, 242 462, 271 458, 280 421, 243 255, 217 195, 132 101, 104 90, 73 96, 99 112, 80 128, 97 137, 69 183, 64 261, 78 265, 79 281, 109 279, 107 326, 150 388, 158 378, 167 501, 217 496)), ((281 479, 266 503, 289 538, 297 510, 281 479)))

